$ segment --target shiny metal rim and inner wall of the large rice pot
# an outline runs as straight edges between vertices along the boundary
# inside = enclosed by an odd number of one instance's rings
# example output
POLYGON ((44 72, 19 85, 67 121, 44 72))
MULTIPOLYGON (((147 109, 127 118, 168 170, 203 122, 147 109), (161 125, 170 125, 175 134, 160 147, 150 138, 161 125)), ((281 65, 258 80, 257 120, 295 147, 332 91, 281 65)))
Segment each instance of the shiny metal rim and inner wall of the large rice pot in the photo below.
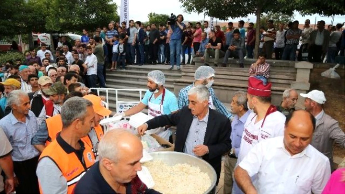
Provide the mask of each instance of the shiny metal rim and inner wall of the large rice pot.
POLYGON ((181 152, 151 152, 150 155, 154 158, 154 160, 161 160, 170 166, 174 166, 175 164, 189 164, 191 166, 198 166, 201 172, 207 173, 211 180, 211 186, 204 194, 215 193, 217 181, 216 171, 203 159, 181 152))

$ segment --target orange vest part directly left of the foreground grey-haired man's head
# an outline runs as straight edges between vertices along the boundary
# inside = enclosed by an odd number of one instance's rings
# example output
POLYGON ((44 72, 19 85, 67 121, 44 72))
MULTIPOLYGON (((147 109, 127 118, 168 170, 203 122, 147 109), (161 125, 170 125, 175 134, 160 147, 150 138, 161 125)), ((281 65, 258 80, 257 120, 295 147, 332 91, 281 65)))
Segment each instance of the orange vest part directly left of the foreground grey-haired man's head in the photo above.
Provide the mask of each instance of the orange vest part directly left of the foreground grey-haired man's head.
POLYGON ((47 129, 48 129, 48 139, 46 141, 46 146, 48 146, 59 132, 62 130, 62 119, 61 115, 55 115, 53 117, 46 119, 47 129))

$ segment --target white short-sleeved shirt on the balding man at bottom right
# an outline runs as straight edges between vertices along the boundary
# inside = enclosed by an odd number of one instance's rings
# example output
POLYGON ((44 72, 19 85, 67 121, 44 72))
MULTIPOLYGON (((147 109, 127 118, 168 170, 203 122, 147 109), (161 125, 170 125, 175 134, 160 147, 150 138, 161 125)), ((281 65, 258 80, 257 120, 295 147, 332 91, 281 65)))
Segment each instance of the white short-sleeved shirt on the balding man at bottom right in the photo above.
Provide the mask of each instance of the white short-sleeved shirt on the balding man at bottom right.
POLYGON ((329 159, 311 145, 291 156, 283 139, 275 137, 260 142, 239 166, 249 176, 257 174, 258 193, 321 193, 331 176, 329 159))

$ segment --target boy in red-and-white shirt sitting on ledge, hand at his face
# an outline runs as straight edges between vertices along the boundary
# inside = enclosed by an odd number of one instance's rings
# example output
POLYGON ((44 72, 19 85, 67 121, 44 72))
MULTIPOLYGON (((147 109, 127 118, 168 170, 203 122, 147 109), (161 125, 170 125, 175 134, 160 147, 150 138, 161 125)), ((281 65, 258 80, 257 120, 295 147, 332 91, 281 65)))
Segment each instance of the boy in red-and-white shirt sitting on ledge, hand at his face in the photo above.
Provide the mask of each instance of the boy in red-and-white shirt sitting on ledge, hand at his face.
POLYGON ((266 63, 266 54, 260 53, 258 60, 253 63, 249 68, 249 76, 256 77, 263 81, 264 85, 267 84, 267 79, 269 78, 270 65, 266 63))

